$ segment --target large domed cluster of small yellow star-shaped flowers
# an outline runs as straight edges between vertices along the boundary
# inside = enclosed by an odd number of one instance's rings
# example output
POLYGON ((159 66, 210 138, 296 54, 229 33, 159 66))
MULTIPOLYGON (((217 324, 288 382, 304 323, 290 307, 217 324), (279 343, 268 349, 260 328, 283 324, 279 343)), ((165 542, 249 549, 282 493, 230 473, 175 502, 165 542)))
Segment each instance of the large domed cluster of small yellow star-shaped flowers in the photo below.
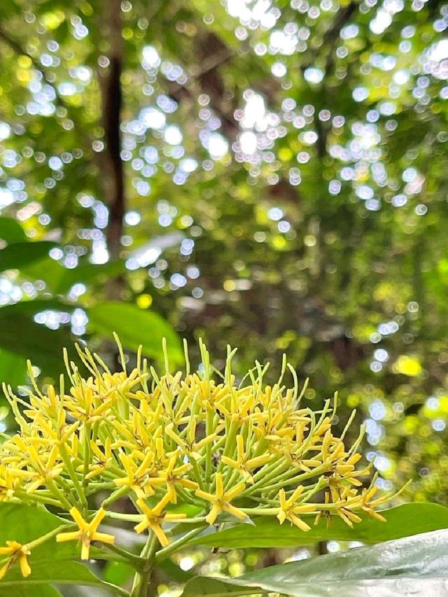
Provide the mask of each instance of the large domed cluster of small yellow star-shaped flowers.
MULTIPOLYGON (((19 431, 0 446, 0 500, 52 507, 67 527, 57 541, 79 540, 82 559, 93 541, 113 547, 114 536, 98 531, 107 517, 136 523, 162 547, 178 521, 272 516, 308 531, 309 515, 316 524, 336 515, 349 526, 363 512, 382 518, 375 508, 390 496, 377 498, 370 467, 357 468, 362 434, 344 444, 353 417, 333 435, 330 401, 318 412, 302 407, 304 388, 300 394, 286 360, 274 386, 264 383, 267 367, 259 363, 237 384, 235 351, 221 373, 202 343, 200 350, 199 372, 190 372, 186 350, 185 374, 171 374, 166 363, 159 375, 141 351, 128 372, 120 349, 123 371, 113 373, 78 347, 88 373, 65 358, 69 387, 61 376, 58 391, 41 391, 30 367, 28 400, 3 388, 19 431), (283 384, 288 369, 291 388, 283 384), (114 510, 125 497, 129 514, 114 510)), ((14 561, 29 573, 28 547, 0 548, 8 556, 0 577, 14 561)))

